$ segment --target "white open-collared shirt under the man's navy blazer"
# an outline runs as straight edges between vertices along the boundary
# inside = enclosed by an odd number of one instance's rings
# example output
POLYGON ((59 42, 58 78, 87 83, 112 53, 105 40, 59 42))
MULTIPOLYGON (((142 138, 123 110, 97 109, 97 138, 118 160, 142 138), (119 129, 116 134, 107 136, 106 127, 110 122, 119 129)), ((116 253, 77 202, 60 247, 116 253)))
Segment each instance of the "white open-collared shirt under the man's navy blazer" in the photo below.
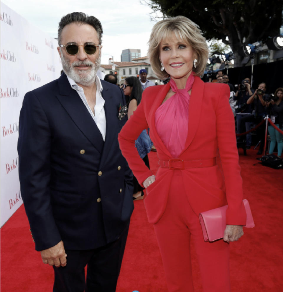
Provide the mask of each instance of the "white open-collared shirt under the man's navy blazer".
POLYGON ((75 83, 75 81, 73 79, 71 79, 69 76, 67 76, 71 87, 78 92, 78 95, 80 96, 81 100, 83 101, 85 107, 88 109, 88 112, 90 113, 90 115, 92 116, 93 120, 95 121, 97 128, 99 129, 103 141, 105 141, 105 135, 106 135, 106 117, 105 117, 105 110, 104 110, 104 103, 105 100, 102 97, 102 85, 100 82, 100 79, 98 78, 98 76, 95 77, 95 82, 96 82, 96 103, 94 106, 94 115, 93 112, 91 110, 91 108, 88 105, 88 102, 86 100, 85 94, 83 92, 83 88, 78 86, 78 84, 75 83))

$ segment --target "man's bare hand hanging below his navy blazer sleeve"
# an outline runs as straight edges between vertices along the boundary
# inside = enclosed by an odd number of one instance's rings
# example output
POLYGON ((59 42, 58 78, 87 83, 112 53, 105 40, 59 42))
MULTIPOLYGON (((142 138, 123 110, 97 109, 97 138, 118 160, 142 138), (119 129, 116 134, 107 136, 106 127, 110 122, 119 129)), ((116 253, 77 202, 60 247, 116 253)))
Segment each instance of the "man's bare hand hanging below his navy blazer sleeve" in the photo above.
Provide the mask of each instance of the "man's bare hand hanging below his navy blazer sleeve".
POLYGON ((53 247, 42 250, 40 253, 44 264, 55 265, 55 267, 65 267, 67 265, 67 255, 65 254, 62 240, 53 247))

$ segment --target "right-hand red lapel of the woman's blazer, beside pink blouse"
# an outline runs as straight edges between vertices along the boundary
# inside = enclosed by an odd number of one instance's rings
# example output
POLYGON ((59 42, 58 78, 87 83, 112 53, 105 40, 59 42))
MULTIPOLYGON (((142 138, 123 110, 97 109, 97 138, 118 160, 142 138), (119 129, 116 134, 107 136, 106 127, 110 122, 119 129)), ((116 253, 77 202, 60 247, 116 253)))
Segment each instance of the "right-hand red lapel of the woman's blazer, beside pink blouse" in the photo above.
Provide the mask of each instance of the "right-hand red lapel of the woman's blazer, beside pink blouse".
MULTIPOLYGON (((188 135, 185 142, 185 147, 181 154, 190 146, 200 122, 200 113, 203 102, 204 82, 200 77, 195 76, 195 81, 192 85, 192 92, 189 103, 189 118, 188 118, 188 135)), ((180 155, 181 155, 180 154, 180 155)))

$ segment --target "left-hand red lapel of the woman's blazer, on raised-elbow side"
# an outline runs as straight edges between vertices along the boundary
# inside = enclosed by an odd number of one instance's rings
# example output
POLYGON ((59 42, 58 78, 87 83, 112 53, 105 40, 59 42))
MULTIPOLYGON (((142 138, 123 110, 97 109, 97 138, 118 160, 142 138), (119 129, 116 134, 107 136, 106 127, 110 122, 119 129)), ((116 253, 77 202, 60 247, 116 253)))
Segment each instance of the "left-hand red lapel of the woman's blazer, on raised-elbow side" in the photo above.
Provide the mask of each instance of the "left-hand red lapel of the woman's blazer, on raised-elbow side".
POLYGON ((157 108, 162 104, 163 99, 165 98, 166 94, 168 93, 170 89, 169 82, 162 86, 160 91, 157 93, 156 97, 154 97, 154 102, 152 104, 151 109, 149 110, 149 134, 154 139, 154 144, 157 146, 160 150, 164 152, 169 157, 172 157, 168 149, 163 144, 162 140, 160 139, 159 135, 157 134, 156 127, 155 127, 155 112, 157 108))

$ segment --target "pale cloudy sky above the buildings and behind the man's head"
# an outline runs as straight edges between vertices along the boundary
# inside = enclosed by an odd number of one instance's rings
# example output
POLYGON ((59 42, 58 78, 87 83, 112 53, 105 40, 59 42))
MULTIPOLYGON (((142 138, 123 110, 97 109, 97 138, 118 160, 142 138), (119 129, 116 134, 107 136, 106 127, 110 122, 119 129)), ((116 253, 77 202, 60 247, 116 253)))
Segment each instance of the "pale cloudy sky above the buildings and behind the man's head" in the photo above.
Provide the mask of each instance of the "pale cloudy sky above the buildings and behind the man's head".
POLYGON ((70 12, 84 12, 97 17, 103 27, 101 63, 108 59, 121 61, 124 49, 140 49, 147 55, 147 42, 154 21, 152 10, 140 0, 1 0, 32 25, 52 37, 57 37, 58 23, 70 12), (111 56, 110 56, 111 55, 111 56))

